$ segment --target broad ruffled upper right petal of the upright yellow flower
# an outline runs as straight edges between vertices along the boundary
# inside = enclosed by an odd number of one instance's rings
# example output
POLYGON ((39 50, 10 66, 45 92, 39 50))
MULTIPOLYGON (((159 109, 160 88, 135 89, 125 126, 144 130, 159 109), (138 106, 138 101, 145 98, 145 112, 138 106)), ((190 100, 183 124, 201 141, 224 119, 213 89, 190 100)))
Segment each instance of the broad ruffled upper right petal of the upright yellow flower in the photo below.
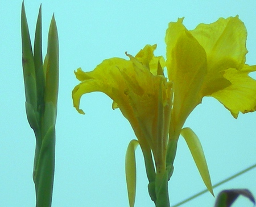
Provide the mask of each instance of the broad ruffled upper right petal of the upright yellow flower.
POLYGON ((241 69, 245 64, 246 28, 236 17, 220 18, 212 24, 199 24, 191 34, 207 53, 208 74, 202 96, 210 95, 230 85, 223 77, 226 69, 241 69))

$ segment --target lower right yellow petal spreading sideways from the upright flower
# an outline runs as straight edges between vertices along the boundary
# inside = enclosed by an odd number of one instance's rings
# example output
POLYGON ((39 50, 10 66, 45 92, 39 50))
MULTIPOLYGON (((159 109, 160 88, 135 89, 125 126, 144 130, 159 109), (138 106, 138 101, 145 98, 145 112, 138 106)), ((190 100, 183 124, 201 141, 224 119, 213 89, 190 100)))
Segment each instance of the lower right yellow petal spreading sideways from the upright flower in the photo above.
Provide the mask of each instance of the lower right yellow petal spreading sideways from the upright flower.
POLYGON ((256 65, 244 65, 240 71, 234 68, 226 70, 224 77, 231 85, 211 95, 229 109, 234 118, 239 112, 256 110, 256 80, 248 76, 252 71, 256 71, 256 65))

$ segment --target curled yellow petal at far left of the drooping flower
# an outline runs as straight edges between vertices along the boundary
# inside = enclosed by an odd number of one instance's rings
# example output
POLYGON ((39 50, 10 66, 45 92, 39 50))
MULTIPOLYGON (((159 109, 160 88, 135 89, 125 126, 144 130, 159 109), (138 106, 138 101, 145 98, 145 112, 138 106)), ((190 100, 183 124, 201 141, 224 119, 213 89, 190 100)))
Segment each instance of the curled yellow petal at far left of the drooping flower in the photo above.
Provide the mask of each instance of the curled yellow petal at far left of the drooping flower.
POLYGON ((81 68, 77 69, 76 76, 82 82, 73 89, 73 105, 79 113, 83 114, 84 111, 79 109, 81 96, 90 92, 103 92, 117 102, 119 107, 126 105, 123 106, 125 109, 123 112, 126 115, 129 113, 132 115, 128 97, 125 95, 127 86, 120 73, 121 70, 126 70, 129 73, 132 68, 133 64, 130 61, 112 58, 104 60, 91 72, 83 72, 81 68))

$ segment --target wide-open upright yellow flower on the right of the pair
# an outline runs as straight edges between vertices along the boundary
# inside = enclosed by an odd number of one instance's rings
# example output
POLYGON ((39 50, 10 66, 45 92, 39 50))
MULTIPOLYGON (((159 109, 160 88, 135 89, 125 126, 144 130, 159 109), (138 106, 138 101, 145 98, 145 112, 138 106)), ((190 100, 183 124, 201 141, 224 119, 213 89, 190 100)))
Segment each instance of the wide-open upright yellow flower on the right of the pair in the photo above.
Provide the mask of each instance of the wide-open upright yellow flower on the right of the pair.
POLYGON ((246 28, 236 17, 199 24, 188 31, 183 19, 171 22, 166 32, 168 78, 174 84, 172 131, 179 131, 204 96, 220 101, 234 118, 255 111, 256 81, 245 64, 246 28))

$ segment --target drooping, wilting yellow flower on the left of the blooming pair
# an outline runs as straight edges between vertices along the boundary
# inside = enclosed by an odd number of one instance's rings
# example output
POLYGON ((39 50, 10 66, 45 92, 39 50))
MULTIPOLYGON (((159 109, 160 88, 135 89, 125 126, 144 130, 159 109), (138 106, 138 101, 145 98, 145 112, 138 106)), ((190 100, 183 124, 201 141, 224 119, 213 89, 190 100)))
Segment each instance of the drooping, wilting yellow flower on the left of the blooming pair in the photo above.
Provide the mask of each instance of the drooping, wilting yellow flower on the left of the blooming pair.
POLYGON ((129 120, 141 146, 150 147, 155 162, 165 167, 170 109, 171 83, 163 76, 163 57, 155 57, 156 45, 146 45, 130 60, 104 60, 92 72, 75 72, 82 81, 72 92, 79 113, 82 94, 103 92, 112 98, 113 109, 119 107, 129 120), (164 124, 166 123, 166 124, 164 124))

